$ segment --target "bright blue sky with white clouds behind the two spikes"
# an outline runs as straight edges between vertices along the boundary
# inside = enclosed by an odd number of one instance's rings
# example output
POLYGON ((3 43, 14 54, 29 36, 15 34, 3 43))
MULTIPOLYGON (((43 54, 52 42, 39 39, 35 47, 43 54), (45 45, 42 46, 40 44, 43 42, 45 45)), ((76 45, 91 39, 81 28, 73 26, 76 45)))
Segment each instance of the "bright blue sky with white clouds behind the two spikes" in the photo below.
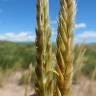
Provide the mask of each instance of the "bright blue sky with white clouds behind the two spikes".
MULTIPOLYGON (((56 39, 59 0, 50 0, 52 41, 56 39)), ((96 42, 96 0, 77 0, 75 42, 96 42)), ((36 0, 0 0, 0 40, 34 41, 36 0)))

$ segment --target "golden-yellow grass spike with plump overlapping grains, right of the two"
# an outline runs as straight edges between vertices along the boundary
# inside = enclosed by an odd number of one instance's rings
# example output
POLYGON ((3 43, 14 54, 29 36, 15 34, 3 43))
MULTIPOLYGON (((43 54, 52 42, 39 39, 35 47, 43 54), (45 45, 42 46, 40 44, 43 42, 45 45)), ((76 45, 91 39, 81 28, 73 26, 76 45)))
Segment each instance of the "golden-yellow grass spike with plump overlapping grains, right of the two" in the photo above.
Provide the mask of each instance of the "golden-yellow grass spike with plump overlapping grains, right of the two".
POLYGON ((76 4, 75 0, 60 0, 57 35, 57 83, 59 96, 71 96, 73 77, 73 39, 76 4))

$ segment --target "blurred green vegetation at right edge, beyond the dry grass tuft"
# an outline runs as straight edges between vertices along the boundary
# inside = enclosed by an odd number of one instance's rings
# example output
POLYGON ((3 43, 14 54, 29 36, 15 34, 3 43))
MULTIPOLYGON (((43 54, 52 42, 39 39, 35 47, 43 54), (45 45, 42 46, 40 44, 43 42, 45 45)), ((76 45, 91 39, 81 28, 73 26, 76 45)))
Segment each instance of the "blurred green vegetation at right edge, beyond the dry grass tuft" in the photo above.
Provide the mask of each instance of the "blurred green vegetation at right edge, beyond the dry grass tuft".
MULTIPOLYGON (((86 46, 86 62, 82 69, 85 76, 92 77, 94 70, 96 69, 96 44, 85 45, 86 46)), ((95 77, 96 78, 96 75, 95 77)))

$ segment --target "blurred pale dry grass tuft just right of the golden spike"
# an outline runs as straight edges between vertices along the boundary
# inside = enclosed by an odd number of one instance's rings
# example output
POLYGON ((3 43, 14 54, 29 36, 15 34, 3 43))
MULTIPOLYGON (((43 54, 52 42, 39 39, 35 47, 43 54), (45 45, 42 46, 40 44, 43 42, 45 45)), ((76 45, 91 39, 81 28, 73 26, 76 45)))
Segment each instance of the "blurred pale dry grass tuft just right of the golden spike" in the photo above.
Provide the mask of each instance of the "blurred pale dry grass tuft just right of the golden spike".
POLYGON ((74 74, 73 74, 73 82, 79 83, 80 76, 82 76, 82 68, 85 65, 85 61, 87 61, 85 57, 86 48, 80 44, 74 50, 74 74))

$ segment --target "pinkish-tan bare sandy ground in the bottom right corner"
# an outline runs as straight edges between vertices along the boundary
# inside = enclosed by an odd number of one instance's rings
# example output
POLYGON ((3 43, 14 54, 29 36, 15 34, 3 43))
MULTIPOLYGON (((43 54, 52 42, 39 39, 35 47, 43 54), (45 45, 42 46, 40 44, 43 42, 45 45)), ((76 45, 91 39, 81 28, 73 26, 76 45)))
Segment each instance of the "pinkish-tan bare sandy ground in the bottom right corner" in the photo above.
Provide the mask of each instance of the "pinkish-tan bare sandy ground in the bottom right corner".
POLYGON ((73 96, 96 96, 96 81, 83 77, 80 84, 73 85, 73 96))

